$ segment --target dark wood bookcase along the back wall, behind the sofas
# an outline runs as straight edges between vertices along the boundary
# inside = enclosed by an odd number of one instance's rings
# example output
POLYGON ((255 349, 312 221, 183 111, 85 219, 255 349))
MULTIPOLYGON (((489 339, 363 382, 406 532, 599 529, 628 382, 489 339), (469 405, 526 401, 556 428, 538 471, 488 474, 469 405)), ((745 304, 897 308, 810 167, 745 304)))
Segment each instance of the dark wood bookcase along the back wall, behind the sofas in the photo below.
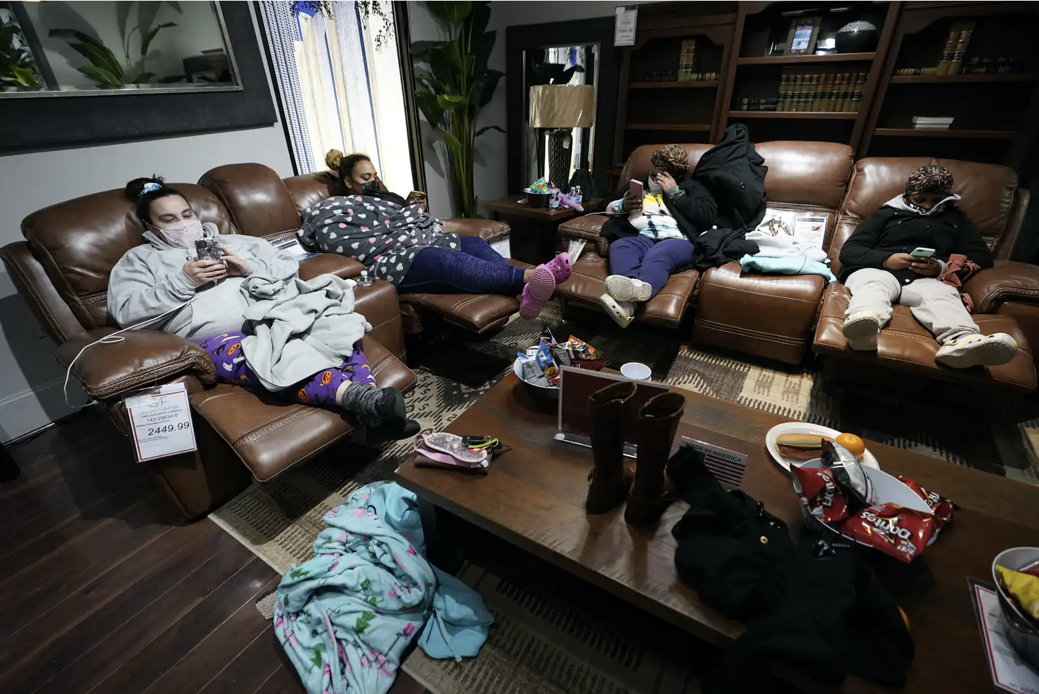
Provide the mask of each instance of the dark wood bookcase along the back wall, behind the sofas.
POLYGON ((1039 136, 1039 41, 1033 36, 1039 3, 748 0, 722 11, 716 5, 639 7, 635 45, 623 49, 615 161, 627 160, 641 144, 664 141, 668 131, 690 133, 687 142, 717 142, 732 121, 746 124, 758 142, 823 140, 849 144, 856 158, 933 156, 1010 166, 1019 163, 1029 138, 1039 136), (783 49, 796 19, 784 12, 802 9, 821 18, 815 49, 828 50, 824 41, 844 24, 862 20, 878 28, 876 47, 768 55, 783 49), (943 56, 952 29, 963 26, 971 28, 965 49, 959 56, 943 56), (696 41, 693 70, 717 72, 719 79, 673 81, 682 42, 690 38, 696 41), (896 75, 906 68, 935 72, 947 65, 954 74, 896 75), (1000 69, 1017 72, 966 72, 1000 69), (798 96, 808 108, 815 101, 819 109, 820 99, 833 108, 849 94, 855 111, 742 110, 744 104, 762 103, 796 107, 798 96), (669 119, 681 113, 697 125, 652 123, 664 117, 661 113, 669 119), (914 116, 952 116, 956 127, 915 129, 914 116))

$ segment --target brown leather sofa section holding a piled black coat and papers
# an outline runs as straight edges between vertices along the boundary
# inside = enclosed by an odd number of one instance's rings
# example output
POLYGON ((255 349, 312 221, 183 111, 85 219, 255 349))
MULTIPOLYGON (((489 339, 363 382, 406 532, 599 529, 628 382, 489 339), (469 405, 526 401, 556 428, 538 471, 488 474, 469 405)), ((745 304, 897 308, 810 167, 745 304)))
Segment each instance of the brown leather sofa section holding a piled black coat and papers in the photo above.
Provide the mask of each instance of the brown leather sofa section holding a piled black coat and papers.
MULTIPOLYGON (((620 176, 622 182, 643 179, 649 157, 659 145, 635 150, 620 176)), ((695 167, 710 144, 684 144, 690 167, 695 167)), ((835 142, 762 142, 757 152, 769 167, 765 188, 769 207, 826 215, 832 235, 837 208, 852 166, 852 151, 835 142)), ((627 183, 621 186, 627 187, 627 183)), ((618 191, 620 192, 620 191, 618 191)), ((560 286, 564 308, 601 310, 606 291, 609 244, 600 237, 607 217, 586 215, 560 224, 561 234, 594 240, 574 265, 574 275, 560 286)), ((636 320, 677 328, 695 301, 693 339, 760 356, 796 364, 804 356, 811 337, 825 279, 819 275, 765 275, 743 273, 737 263, 671 275, 650 301, 636 311, 636 320)))

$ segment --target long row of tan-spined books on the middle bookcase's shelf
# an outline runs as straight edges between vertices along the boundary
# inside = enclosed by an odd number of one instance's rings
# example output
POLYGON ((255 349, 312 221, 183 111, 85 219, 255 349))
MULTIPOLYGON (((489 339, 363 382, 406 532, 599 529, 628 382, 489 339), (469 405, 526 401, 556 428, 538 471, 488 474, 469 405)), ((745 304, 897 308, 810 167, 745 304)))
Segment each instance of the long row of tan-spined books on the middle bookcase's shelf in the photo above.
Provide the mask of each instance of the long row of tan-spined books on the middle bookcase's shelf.
POLYGON ((778 97, 743 100, 747 102, 744 110, 855 112, 862 101, 865 78, 865 73, 850 71, 784 68, 778 97), (758 108, 752 108, 750 102, 757 102, 758 108))

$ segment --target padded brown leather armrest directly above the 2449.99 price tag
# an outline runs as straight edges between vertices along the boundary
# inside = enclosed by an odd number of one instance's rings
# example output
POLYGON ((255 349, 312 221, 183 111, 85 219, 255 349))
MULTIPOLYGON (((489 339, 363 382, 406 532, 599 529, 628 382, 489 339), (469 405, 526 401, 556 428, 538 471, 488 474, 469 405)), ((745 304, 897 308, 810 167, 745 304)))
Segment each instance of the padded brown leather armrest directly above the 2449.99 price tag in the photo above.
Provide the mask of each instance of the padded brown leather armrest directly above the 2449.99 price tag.
MULTIPOLYGON (((114 332, 98 328, 77 336, 58 347, 57 359, 68 367, 79 350, 114 332)), ((128 330, 122 342, 94 345, 83 352, 72 373, 87 395, 106 401, 146 385, 194 376, 203 383, 216 380, 216 367, 205 349, 180 336, 162 330, 128 330)))

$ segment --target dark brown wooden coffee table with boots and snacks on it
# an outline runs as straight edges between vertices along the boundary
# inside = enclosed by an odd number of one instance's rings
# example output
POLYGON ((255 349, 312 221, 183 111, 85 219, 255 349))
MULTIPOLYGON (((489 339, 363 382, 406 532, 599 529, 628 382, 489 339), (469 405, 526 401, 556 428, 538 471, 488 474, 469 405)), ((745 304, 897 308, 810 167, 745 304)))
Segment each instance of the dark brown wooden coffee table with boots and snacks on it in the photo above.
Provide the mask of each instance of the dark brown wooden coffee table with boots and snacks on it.
MULTIPOLYGON (((746 453, 743 490, 799 533, 803 524, 798 499, 788 474, 765 449, 766 432, 790 420, 672 390, 687 401, 680 436, 746 453)), ((671 528, 685 513, 686 504, 673 504, 660 524, 646 531, 628 526, 622 507, 587 515, 584 500, 591 450, 555 441, 555 408, 532 400, 513 374, 474 403, 448 431, 494 434, 513 450, 496 459, 485 477, 416 468, 406 461, 397 470, 397 481, 420 500, 705 641, 724 646, 743 632, 740 622, 703 605, 675 572, 671 528)), ((912 477, 960 506, 937 541, 907 567, 906 580, 912 585, 900 604, 911 623, 916 657, 908 683, 898 691, 993 691, 967 577, 991 582, 990 565, 996 553, 1039 544, 1039 487, 873 442, 868 445, 886 472, 912 477)), ((805 691, 828 691, 790 668, 777 666, 776 671, 805 691)), ((890 690, 850 677, 841 691, 890 690)))

